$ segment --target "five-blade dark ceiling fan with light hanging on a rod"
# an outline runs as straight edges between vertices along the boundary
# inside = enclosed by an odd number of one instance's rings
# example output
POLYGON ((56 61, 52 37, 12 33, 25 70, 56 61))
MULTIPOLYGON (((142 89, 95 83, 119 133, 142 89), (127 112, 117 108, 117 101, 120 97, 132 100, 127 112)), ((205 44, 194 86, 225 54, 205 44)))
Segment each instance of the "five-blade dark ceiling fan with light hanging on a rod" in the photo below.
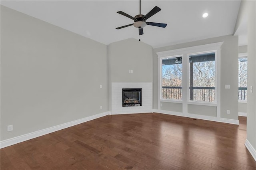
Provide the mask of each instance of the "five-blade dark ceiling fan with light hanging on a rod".
POLYGON ((128 27, 128 26, 134 26, 136 28, 139 29, 139 35, 142 35, 143 34, 143 28, 146 26, 146 25, 150 25, 150 26, 157 26, 157 27, 162 27, 162 28, 165 28, 167 26, 167 24, 162 24, 162 23, 156 23, 156 22, 146 22, 146 20, 148 18, 150 18, 151 16, 153 16, 154 14, 158 13, 161 9, 158 7, 158 6, 155 6, 150 12, 148 12, 148 14, 146 15, 143 15, 143 14, 138 14, 134 17, 122 12, 122 11, 118 11, 117 13, 118 14, 121 14, 123 16, 126 16, 130 19, 132 19, 134 21, 133 24, 128 24, 126 26, 121 26, 121 27, 118 27, 116 29, 121 29, 121 28, 125 28, 125 27, 128 27))

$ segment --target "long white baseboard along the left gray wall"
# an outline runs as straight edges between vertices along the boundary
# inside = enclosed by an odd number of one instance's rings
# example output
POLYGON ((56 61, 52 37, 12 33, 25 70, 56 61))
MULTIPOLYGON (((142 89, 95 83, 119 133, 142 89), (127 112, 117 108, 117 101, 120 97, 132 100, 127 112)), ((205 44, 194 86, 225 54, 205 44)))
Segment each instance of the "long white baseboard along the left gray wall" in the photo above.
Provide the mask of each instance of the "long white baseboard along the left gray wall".
POLYGON ((28 134, 17 136, 17 137, 14 137, 14 138, 2 140, 2 141, 0 141, 0 148, 5 148, 5 147, 11 146, 13 144, 24 142, 24 141, 30 140, 32 138, 36 138, 36 137, 39 137, 39 136, 42 136, 42 135, 45 135, 45 134, 56 132, 56 131, 62 130, 64 128, 72 127, 72 126, 78 125, 80 123, 84 123, 84 122, 91 121, 93 119, 104 117, 106 115, 111 115, 111 112, 99 113, 97 115, 92 115, 92 116, 85 117, 85 118, 82 118, 82 119, 78 119, 78 120, 75 120, 75 121, 71 121, 71 122, 68 122, 68 123, 63 123, 61 125, 57 125, 57 126, 54 126, 54 127, 45 128, 45 129, 42 129, 42 130, 38 130, 38 131, 35 131, 35 132, 31 132, 31 133, 28 133, 28 134))

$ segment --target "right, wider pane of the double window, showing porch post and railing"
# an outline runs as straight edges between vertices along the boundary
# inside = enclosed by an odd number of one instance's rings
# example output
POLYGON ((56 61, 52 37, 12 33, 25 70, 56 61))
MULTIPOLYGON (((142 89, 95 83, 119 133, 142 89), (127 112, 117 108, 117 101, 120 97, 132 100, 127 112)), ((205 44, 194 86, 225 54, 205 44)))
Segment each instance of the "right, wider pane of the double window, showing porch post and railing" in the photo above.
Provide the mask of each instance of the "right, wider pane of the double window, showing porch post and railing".
POLYGON ((189 55, 189 100, 215 102, 215 52, 189 55))

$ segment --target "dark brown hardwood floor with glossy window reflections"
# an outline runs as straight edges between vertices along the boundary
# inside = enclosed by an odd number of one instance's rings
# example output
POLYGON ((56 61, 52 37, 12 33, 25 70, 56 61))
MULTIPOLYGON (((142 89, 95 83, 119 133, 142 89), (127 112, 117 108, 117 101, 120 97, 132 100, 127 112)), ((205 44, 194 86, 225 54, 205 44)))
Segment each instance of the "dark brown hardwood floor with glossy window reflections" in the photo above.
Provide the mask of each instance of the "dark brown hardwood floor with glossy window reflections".
POLYGON ((1 170, 255 170, 239 121, 109 115, 1 149, 1 170))

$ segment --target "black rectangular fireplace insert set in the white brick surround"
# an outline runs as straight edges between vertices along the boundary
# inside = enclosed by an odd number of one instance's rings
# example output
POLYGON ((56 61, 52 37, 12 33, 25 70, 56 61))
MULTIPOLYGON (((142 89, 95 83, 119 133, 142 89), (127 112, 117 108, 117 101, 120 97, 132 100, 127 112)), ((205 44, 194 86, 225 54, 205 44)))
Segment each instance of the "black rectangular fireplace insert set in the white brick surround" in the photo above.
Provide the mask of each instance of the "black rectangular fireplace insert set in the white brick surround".
POLYGON ((141 106, 141 89, 123 89, 123 107, 141 106))

